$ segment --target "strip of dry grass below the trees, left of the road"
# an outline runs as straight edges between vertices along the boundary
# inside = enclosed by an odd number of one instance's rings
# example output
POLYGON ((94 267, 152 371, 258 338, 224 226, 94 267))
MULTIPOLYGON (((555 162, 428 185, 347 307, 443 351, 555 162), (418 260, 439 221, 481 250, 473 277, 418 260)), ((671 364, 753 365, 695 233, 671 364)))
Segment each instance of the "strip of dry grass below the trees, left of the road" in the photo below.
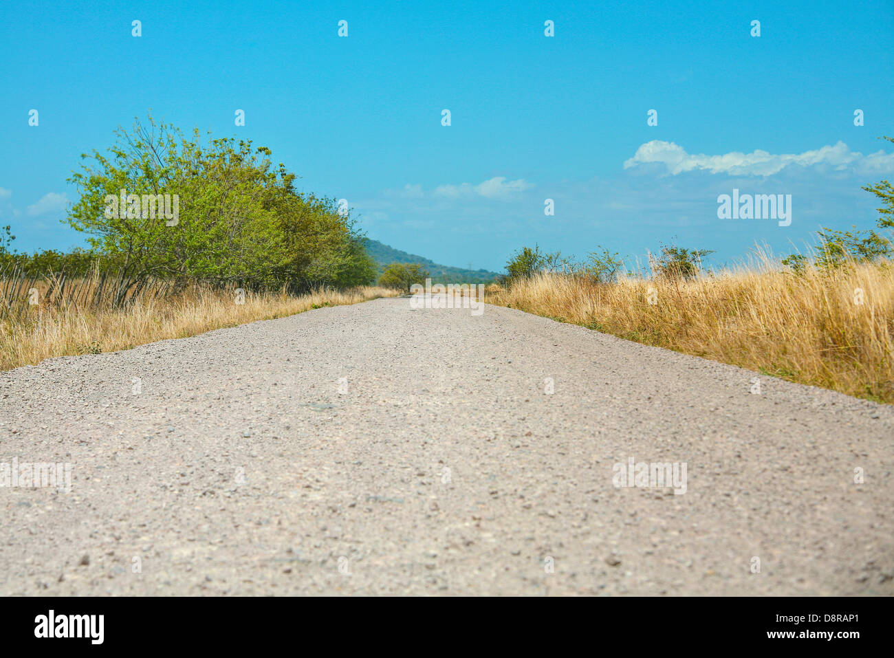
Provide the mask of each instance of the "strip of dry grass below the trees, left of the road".
POLYGON ((397 294, 374 287, 320 290, 299 297, 246 292, 244 303, 237 304, 234 291, 192 286, 173 294, 164 283, 152 282, 128 295, 122 308, 114 308, 114 280, 103 284, 101 277, 91 276, 60 283, 0 277, 0 370, 34 365, 50 357, 127 350, 310 308, 397 294), (36 305, 29 303, 31 288, 38 291, 36 305))

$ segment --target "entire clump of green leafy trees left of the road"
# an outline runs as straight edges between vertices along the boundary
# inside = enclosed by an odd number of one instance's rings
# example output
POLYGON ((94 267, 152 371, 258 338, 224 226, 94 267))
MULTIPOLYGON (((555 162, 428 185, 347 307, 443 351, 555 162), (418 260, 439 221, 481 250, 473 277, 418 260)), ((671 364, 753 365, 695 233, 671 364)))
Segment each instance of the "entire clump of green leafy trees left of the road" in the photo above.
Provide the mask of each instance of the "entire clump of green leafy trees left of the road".
POLYGON ((198 130, 186 136, 151 116, 116 135, 108 154, 82 156, 83 171, 69 179, 80 200, 67 221, 134 281, 156 276, 301 291, 374 278, 349 215, 334 199, 297 192, 297 176, 274 167, 269 148, 210 136, 203 143, 198 130), (130 199, 118 213, 106 212, 121 190, 143 199, 142 212, 130 199), (176 221, 152 213, 143 195, 176 195, 176 221))

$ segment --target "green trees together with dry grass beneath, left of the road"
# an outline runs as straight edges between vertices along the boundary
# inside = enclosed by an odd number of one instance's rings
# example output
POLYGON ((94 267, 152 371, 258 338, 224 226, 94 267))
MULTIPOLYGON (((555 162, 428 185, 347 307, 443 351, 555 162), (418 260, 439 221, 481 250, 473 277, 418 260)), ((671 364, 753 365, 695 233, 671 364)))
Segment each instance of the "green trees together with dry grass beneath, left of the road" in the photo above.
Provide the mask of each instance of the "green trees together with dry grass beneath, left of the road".
POLYGON ((17 253, 0 227, 0 369, 395 294, 349 208, 269 148, 151 116, 116 136, 69 179, 89 249, 17 253))

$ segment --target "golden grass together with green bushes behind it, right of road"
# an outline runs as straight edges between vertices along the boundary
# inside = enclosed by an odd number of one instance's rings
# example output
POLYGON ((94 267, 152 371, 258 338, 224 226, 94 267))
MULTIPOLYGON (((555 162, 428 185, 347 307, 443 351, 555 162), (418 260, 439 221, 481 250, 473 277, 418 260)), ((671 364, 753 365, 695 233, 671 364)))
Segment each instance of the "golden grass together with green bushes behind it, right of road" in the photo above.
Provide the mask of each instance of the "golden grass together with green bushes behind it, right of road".
POLYGON ((894 186, 864 190, 881 203, 876 228, 822 230, 804 254, 778 259, 756 248, 746 265, 715 271, 705 263, 711 251, 675 245, 645 268, 607 249, 575 261, 524 248, 486 300, 894 403, 894 186))

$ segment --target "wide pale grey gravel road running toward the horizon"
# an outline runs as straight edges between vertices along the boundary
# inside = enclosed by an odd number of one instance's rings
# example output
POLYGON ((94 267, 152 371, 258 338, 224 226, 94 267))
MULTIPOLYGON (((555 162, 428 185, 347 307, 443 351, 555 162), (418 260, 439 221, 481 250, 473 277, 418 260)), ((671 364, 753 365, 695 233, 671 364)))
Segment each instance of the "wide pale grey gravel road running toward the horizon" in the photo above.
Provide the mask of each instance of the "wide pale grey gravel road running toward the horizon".
POLYGON ((409 299, 0 373, 0 462, 71 464, 0 594, 894 594, 894 409, 755 376, 409 299))

